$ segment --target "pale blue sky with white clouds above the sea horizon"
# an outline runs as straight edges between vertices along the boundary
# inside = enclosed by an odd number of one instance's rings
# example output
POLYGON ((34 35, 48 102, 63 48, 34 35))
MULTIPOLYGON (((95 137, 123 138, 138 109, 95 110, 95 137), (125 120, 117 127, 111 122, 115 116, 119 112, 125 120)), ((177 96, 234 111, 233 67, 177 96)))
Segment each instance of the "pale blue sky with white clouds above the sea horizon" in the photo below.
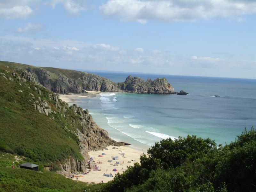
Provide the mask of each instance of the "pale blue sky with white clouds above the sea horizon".
POLYGON ((254 0, 0 0, 0 60, 256 78, 254 0))

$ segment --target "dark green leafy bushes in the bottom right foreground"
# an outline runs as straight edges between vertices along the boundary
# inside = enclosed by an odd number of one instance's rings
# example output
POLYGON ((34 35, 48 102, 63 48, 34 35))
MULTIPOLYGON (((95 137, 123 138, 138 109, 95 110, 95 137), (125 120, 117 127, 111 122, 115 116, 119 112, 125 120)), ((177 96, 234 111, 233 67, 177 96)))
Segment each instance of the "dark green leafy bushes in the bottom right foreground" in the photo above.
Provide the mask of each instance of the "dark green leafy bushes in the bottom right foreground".
POLYGON ((217 148, 210 139, 188 136, 162 140, 96 191, 255 191, 256 131, 244 131, 217 148))

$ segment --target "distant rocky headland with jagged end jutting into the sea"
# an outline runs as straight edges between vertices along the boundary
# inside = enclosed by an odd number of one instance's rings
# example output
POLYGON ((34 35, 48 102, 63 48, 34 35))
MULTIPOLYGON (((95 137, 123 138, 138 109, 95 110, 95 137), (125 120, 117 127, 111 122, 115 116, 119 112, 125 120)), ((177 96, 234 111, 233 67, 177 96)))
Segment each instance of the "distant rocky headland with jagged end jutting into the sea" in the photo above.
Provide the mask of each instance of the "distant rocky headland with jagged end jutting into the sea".
POLYGON ((26 70, 34 75, 37 82, 48 90, 60 93, 84 93, 87 91, 130 92, 147 94, 175 94, 166 78, 148 79, 128 76, 122 83, 115 83, 107 78, 91 73, 48 67, 35 67, 19 63, 1 62, 13 70, 26 70))

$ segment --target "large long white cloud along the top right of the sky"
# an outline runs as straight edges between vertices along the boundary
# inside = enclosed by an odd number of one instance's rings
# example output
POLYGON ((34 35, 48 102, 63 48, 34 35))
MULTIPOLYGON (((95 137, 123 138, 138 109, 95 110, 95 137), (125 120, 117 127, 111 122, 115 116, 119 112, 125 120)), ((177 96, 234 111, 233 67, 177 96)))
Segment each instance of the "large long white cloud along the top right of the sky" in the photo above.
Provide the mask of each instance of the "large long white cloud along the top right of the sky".
POLYGON ((243 0, 108 0, 100 6, 105 16, 121 21, 195 21, 256 13, 255 1, 243 0))

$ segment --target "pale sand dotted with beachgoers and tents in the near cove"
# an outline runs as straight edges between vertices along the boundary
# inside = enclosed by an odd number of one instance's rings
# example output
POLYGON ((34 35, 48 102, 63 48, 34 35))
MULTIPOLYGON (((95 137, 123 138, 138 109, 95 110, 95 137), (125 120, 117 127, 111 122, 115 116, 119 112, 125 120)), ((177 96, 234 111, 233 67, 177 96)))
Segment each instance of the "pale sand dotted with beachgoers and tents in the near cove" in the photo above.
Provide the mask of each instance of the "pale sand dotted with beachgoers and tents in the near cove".
MULTIPOLYGON (((100 183, 101 180, 103 180, 103 182, 106 183, 110 180, 113 180, 116 173, 118 172, 123 173, 124 170, 127 169, 127 166, 133 165, 136 162, 140 163, 140 155, 142 154, 140 150, 136 150, 129 146, 117 147, 117 149, 112 149, 113 147, 115 146, 108 146, 107 147, 108 150, 104 149, 99 151, 90 151, 89 152, 90 157, 93 158, 93 160, 95 161, 95 164, 98 165, 101 171, 92 170, 90 173, 86 175, 78 174, 83 176, 83 177, 78 177, 78 180, 83 182, 88 182, 88 183, 91 183, 91 182, 100 183), (122 155, 120 154, 121 151, 124 153, 124 157, 122 157, 122 155), (103 157, 98 157, 98 155, 101 155, 102 153, 105 153, 106 155, 102 155, 103 157), (111 156, 118 156, 119 158, 118 160, 113 160, 111 156), (131 161, 132 159, 135 160, 135 162, 131 161), (108 160, 112 160, 112 162, 109 163, 108 160), (101 161, 102 164, 98 164, 97 162, 99 161, 101 161), (116 161, 119 162, 120 164, 118 164, 117 166, 114 166, 116 161), (131 163, 128 163, 128 161, 131 161, 131 163), (115 168, 117 169, 117 172, 112 171, 115 168), (112 173, 114 177, 103 176, 104 173, 106 174, 112 173)), ((73 178, 73 180, 76 180, 76 176, 77 175, 75 175, 75 178, 73 178)))

